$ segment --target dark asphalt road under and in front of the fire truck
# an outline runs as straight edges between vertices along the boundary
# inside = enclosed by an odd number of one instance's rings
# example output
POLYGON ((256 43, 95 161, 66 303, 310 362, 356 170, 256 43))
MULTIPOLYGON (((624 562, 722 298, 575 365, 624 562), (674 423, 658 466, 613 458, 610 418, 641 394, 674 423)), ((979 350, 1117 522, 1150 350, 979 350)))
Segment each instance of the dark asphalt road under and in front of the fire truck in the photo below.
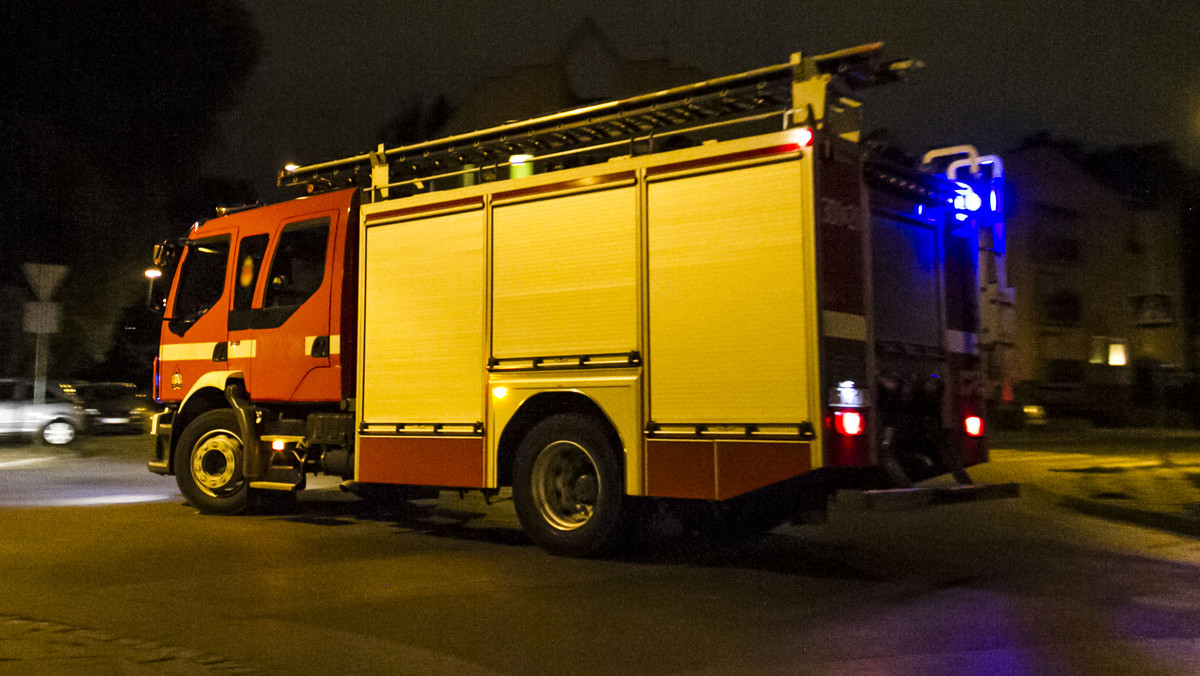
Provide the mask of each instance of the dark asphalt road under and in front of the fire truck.
POLYGON ((1200 672, 1200 544, 1037 496, 575 561, 451 493, 203 516, 143 443, 0 445, 0 675, 1200 672))

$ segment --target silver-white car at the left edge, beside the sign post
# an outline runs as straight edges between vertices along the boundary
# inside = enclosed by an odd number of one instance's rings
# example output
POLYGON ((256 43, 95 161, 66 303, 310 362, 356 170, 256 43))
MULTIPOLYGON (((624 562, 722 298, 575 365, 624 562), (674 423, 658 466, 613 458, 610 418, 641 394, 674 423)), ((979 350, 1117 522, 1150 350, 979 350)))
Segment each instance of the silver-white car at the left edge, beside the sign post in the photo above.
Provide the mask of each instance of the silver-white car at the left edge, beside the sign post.
POLYGON ((0 378, 0 436, 34 437, 65 445, 88 429, 88 417, 71 385, 46 383, 46 402, 34 403, 34 383, 0 378))

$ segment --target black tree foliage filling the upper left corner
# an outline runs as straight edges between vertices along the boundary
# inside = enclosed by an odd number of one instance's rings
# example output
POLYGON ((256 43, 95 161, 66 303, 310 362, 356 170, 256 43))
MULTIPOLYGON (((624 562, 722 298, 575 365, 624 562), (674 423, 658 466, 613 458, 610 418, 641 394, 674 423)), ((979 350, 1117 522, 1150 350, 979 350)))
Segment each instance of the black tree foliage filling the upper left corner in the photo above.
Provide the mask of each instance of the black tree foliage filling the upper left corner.
POLYGON ((150 245, 196 216, 181 196, 260 41, 234 0, 10 0, 0 24, 0 286, 24 262, 71 267, 50 363, 66 376, 103 355, 150 245))

